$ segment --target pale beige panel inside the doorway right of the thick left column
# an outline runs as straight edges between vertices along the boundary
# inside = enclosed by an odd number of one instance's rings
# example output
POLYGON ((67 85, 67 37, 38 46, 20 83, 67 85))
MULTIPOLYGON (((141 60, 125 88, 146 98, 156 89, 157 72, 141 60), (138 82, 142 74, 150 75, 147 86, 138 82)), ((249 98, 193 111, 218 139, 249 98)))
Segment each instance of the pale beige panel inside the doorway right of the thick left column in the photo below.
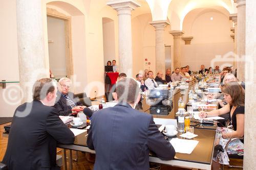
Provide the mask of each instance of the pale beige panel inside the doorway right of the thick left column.
POLYGON ((49 65, 55 78, 66 77, 65 23, 64 20, 47 17, 49 65))

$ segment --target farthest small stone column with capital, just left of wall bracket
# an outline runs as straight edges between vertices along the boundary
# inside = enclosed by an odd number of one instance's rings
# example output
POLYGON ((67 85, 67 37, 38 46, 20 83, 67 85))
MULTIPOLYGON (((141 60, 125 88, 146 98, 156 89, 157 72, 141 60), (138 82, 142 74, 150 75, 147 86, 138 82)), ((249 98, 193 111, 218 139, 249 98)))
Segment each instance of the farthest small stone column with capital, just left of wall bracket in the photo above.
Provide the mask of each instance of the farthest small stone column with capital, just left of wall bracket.
POLYGON ((181 67, 181 36, 184 34, 183 31, 170 31, 170 34, 174 36, 174 69, 177 67, 181 67))

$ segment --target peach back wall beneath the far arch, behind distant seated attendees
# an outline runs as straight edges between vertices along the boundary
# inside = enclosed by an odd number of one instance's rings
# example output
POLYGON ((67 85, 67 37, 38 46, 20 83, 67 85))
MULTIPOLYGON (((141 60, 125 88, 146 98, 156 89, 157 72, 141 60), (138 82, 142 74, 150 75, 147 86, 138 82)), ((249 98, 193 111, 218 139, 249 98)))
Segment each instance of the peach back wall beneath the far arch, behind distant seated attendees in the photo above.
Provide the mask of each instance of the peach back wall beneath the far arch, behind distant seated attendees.
POLYGON ((206 68, 216 64, 219 66, 233 65, 233 62, 213 62, 216 55, 234 51, 233 39, 230 37, 230 22, 228 16, 221 12, 211 11, 198 14, 191 12, 183 23, 184 36, 193 36, 190 45, 181 45, 181 66, 189 65, 190 70, 198 71, 201 64, 206 68), (210 18, 213 18, 210 20, 210 18), (212 65, 211 61, 213 62, 212 65))

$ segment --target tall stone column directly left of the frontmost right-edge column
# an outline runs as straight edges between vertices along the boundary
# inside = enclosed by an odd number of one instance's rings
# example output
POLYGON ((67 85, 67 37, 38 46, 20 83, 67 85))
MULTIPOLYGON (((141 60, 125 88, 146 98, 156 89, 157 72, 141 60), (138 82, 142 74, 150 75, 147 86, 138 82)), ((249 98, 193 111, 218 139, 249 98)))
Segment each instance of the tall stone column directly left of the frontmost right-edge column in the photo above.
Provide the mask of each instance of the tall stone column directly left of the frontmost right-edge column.
POLYGON ((237 61, 238 74, 237 77, 241 81, 245 81, 245 0, 234 0, 238 8, 238 28, 237 28, 237 54, 240 61, 237 61))

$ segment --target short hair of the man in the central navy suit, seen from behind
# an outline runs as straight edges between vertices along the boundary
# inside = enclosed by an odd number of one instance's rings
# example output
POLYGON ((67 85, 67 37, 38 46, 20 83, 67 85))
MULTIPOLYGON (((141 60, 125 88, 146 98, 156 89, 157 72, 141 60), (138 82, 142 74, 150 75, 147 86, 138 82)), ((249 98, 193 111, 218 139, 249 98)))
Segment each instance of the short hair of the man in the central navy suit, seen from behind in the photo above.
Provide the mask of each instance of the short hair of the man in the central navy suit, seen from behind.
POLYGON ((139 91, 138 83, 132 78, 123 78, 117 82, 116 93, 118 102, 134 104, 139 91))

